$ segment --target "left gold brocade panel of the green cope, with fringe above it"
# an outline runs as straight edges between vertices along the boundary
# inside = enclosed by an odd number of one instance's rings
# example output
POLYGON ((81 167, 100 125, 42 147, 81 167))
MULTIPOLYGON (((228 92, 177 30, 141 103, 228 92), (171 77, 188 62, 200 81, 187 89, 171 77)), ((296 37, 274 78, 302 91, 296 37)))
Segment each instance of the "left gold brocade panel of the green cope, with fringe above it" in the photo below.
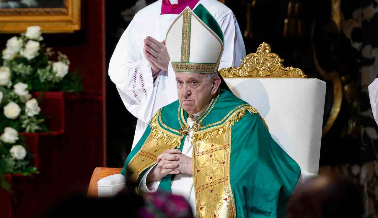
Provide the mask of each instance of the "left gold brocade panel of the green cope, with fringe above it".
POLYGON ((158 117, 160 117, 160 113, 161 109, 153 115, 150 122, 150 135, 128 164, 132 172, 130 175, 132 181, 137 181, 139 175, 148 167, 155 164, 157 156, 162 154, 165 150, 180 147, 183 137, 175 135, 159 125, 158 117))

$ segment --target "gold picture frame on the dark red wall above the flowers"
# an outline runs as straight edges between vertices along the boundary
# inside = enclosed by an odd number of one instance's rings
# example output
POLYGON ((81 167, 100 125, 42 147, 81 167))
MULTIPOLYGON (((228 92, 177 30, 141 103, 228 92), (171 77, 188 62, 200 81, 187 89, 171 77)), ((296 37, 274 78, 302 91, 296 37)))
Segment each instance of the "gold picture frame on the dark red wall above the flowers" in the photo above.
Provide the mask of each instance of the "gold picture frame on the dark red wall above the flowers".
POLYGON ((25 32, 40 26, 44 33, 70 33, 81 28, 81 0, 63 0, 63 8, 0 8, 0 33, 25 32))

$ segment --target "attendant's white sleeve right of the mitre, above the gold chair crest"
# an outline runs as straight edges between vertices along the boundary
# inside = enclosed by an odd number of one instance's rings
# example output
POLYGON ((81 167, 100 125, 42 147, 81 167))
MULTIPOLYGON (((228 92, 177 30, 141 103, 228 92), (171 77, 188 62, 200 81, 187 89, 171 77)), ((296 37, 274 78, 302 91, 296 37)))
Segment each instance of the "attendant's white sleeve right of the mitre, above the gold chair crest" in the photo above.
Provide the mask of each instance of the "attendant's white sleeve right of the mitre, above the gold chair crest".
POLYGON ((245 46, 239 24, 232 11, 223 15, 218 21, 225 37, 225 45, 219 69, 239 66, 245 57, 245 46))

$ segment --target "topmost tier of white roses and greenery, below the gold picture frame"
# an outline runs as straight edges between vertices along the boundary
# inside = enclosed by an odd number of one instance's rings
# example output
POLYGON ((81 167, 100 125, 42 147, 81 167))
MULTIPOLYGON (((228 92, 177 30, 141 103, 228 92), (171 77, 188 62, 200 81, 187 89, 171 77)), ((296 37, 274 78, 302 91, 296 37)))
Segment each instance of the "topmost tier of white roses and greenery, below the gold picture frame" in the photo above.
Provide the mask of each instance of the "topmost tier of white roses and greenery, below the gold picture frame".
POLYGON ((9 38, 0 58, 0 86, 10 88, 22 82, 29 85, 29 91, 81 91, 81 77, 69 74, 68 57, 58 51, 57 61, 51 60, 56 53, 41 44, 42 40, 39 26, 9 38))

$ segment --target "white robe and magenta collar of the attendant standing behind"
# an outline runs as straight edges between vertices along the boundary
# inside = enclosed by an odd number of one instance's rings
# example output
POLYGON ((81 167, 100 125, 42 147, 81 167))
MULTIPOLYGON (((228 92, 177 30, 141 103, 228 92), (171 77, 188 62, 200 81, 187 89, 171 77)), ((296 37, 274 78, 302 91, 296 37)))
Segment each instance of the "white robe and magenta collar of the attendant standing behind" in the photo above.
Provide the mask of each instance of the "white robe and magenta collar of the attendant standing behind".
MULTIPOLYGON (((195 2, 194 8, 198 4, 205 6, 223 31, 225 46, 219 69, 239 66, 240 60, 245 57, 245 46, 231 9, 217 0, 195 2)), ((184 9, 185 4, 190 3, 193 0, 158 0, 141 9, 122 34, 110 60, 110 79, 115 83, 126 109, 138 118, 132 149, 146 130, 152 115, 178 98, 171 64, 168 64, 167 71, 160 70, 153 77, 151 64, 144 52, 144 39, 150 36, 163 41, 169 26, 181 12, 175 9, 184 9), (169 6, 172 9, 167 9, 169 6)))

